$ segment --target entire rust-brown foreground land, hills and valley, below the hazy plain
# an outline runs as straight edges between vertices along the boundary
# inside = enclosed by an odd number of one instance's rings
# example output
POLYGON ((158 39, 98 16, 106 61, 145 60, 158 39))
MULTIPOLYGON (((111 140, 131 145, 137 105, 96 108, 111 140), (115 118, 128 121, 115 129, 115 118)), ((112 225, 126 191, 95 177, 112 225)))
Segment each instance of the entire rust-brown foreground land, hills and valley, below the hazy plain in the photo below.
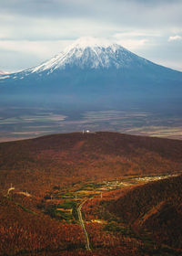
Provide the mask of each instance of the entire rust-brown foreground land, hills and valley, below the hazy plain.
POLYGON ((181 171, 177 140, 103 132, 1 143, 0 255, 181 255, 181 171))

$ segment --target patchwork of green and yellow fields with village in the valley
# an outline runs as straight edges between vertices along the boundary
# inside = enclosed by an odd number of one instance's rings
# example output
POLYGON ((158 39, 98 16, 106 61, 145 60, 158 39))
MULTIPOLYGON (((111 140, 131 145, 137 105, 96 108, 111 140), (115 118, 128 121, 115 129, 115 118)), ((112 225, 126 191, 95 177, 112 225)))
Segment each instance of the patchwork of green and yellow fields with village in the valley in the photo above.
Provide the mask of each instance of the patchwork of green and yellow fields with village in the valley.
MULTIPOLYGON (((45 205, 43 208, 46 214, 72 223, 77 219, 76 208, 86 199, 110 197, 109 191, 165 179, 168 176, 127 176, 110 181, 76 183, 71 187, 54 187, 52 191, 45 195, 45 205)), ((102 220, 91 219, 91 221, 102 220)))

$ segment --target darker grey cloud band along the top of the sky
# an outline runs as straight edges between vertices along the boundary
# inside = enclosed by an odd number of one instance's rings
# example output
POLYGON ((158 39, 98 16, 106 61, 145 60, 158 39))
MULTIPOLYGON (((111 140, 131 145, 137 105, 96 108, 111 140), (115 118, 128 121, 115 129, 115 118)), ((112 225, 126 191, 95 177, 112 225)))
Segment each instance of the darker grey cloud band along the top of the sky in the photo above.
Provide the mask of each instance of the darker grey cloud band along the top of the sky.
MULTIPOLYGON (((84 17, 132 25, 135 20, 140 26, 160 26, 168 19, 172 22, 172 17, 177 22, 181 6, 178 0, 11 0, 1 3, 1 12, 38 18, 84 17)), ((181 18, 178 22, 181 24, 181 18)))

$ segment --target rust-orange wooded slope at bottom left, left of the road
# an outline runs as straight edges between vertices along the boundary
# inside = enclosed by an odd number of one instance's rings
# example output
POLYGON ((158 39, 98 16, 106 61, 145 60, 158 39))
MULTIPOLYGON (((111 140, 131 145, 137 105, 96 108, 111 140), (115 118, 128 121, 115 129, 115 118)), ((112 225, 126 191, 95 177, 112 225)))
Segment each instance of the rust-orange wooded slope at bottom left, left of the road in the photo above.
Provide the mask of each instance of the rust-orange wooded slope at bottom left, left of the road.
POLYGON ((85 237, 77 224, 60 223, 45 215, 34 215, 1 197, 0 254, 27 251, 69 251, 85 248, 85 237))

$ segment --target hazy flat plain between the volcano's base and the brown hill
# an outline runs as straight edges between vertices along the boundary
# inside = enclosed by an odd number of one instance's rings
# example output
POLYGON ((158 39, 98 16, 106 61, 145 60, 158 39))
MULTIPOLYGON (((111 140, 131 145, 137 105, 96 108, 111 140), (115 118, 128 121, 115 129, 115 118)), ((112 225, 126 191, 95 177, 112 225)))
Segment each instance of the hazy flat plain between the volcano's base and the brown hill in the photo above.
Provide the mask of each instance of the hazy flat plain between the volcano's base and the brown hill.
POLYGON ((0 108, 0 142, 89 130, 182 138, 181 112, 138 109, 62 112, 54 108, 0 108))

